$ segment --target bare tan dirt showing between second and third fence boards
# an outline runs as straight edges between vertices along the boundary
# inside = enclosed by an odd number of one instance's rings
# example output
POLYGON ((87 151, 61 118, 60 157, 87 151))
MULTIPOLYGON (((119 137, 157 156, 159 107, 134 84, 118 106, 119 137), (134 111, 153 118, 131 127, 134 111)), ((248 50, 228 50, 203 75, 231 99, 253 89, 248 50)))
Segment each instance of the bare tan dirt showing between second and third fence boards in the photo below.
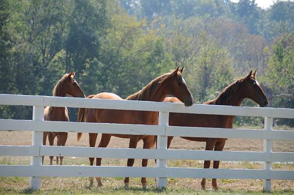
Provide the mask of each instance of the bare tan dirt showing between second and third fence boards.
MULTIPOLYGON (((100 134, 97 138, 96 146, 100 141, 100 134)), ((69 133, 66 146, 89 146, 89 134, 83 134, 79 142, 76 141, 76 133, 69 133)), ((54 140, 56 145, 56 139, 54 140)), ((112 137, 108 147, 128 147, 128 139, 112 137)), ((49 145, 49 142, 47 141, 49 145)), ((0 145, 12 146, 28 146, 31 145, 31 132, 30 131, 1 131, 0 132, 0 145)), ((138 143, 138 148, 143 148, 143 141, 138 143)), ((174 137, 171 144, 171 149, 195 149, 204 150, 204 142, 193 142, 184 140, 179 137, 174 137)), ((257 139, 228 139, 224 146, 225 151, 263 151, 263 140, 257 139)), ((294 152, 293 141, 273 141, 272 151, 278 152, 294 152)))

